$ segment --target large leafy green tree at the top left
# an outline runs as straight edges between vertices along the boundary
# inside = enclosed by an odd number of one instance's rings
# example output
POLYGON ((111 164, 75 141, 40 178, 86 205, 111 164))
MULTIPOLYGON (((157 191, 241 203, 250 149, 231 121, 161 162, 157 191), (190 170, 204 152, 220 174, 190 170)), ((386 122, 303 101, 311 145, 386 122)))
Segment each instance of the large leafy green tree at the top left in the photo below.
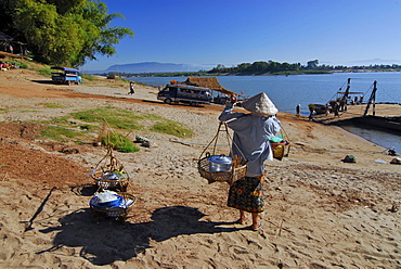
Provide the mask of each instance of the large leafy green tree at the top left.
POLYGON ((112 56, 120 39, 133 37, 129 28, 108 26, 122 15, 107 14, 98 0, 0 0, 0 8, 12 20, 5 33, 22 38, 35 60, 47 64, 78 66, 98 54, 112 56))

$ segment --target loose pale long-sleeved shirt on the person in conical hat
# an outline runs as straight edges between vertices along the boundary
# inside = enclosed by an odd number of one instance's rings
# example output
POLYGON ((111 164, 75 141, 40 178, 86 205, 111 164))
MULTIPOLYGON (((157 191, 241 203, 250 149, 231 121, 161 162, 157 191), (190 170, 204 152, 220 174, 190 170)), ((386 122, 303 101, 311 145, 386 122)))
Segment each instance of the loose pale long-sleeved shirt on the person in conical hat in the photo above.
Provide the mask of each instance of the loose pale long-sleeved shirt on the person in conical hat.
POLYGON ((275 116, 263 116, 256 113, 232 113, 234 104, 228 102, 219 120, 228 121, 234 131, 232 155, 245 157, 247 177, 260 176, 264 170, 264 161, 273 159, 269 139, 276 136, 281 123, 275 116))

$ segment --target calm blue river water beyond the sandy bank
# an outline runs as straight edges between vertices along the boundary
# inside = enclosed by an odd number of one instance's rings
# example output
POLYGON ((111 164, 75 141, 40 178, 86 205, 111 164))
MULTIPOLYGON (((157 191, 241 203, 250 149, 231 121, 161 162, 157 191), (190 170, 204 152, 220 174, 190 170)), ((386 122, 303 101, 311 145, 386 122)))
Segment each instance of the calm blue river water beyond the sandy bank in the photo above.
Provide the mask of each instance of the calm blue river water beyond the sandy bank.
MULTIPOLYGON (((297 75, 297 76, 221 76, 219 82, 236 93, 255 95, 264 91, 279 111, 295 113, 297 104, 301 105, 301 113, 309 114, 308 104, 325 104, 337 97, 337 91, 347 88, 347 79, 351 78, 350 91, 361 92, 364 100, 371 97, 373 82, 377 81, 376 102, 401 103, 401 73, 336 73, 326 75, 297 75)), ((186 77, 132 77, 131 80, 150 86, 165 86, 170 80, 185 81, 186 77)), ((215 92, 215 95, 217 93, 215 92)), ((401 115, 400 115, 401 116, 401 115)), ((400 136, 376 130, 348 128, 350 132, 359 134, 386 149, 394 146, 401 152, 400 136)))

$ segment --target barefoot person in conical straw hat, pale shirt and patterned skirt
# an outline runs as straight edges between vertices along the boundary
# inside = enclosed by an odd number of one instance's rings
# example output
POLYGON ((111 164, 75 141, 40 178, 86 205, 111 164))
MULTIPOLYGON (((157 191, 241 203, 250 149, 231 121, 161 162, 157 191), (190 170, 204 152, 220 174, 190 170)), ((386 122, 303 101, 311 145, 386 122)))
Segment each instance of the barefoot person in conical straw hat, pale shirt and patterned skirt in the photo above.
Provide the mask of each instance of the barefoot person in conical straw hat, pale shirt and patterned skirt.
POLYGON ((264 209, 263 172, 264 161, 273 159, 269 139, 279 133, 281 123, 275 117, 279 112, 264 92, 261 92, 242 103, 251 113, 233 113, 236 98, 231 97, 219 120, 228 121, 234 131, 232 156, 244 156, 247 159, 247 171, 244 178, 236 180, 229 191, 228 206, 240 209, 236 223, 244 225, 251 214, 250 229, 258 231, 263 222, 259 213, 264 209))

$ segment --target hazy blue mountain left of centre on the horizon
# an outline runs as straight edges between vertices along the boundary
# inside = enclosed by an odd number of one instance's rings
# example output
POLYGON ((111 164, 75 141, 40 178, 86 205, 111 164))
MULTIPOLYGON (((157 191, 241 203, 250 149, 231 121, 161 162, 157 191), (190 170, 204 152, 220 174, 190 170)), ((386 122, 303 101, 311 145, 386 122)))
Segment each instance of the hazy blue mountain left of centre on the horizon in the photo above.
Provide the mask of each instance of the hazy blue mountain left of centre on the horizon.
POLYGON ((105 73, 172 73, 172 72, 198 72, 200 69, 211 69, 212 66, 191 65, 191 64, 172 64, 158 62, 144 62, 133 64, 112 65, 105 73))

